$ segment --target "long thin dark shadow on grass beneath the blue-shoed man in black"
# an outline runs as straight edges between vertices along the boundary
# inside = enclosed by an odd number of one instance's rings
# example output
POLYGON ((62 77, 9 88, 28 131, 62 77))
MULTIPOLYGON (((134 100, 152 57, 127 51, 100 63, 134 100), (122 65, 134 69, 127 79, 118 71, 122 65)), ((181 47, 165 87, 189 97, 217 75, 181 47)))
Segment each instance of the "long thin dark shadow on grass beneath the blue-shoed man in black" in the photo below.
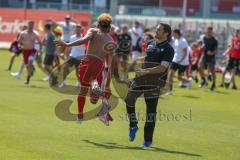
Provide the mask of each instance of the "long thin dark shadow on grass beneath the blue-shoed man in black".
MULTIPOLYGON (((92 142, 90 140, 83 140, 86 143, 95 145, 97 147, 102 147, 105 149, 129 149, 129 150, 143 150, 140 147, 130 147, 130 146, 124 146, 117 143, 96 143, 92 142)), ((144 150, 143 150, 144 151, 144 150)), ((184 156, 192 156, 192 157, 202 157, 202 155, 194 154, 194 153, 186 153, 186 152, 180 152, 180 151, 171 151, 163 148, 157 148, 157 147, 151 147, 151 149, 147 151, 152 152, 163 152, 163 153, 169 153, 169 154, 178 154, 178 155, 184 155, 184 156)))

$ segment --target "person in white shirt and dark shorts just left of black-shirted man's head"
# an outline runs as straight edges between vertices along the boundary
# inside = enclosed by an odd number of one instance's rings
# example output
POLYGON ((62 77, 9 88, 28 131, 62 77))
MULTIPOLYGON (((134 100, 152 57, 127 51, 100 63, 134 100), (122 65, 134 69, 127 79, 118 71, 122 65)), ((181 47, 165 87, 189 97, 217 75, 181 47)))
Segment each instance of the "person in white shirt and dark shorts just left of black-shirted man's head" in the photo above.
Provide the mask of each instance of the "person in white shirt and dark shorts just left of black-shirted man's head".
POLYGON ((135 62, 138 57, 141 56, 141 46, 140 42, 143 39, 143 29, 140 23, 135 21, 134 26, 131 29, 132 37, 132 61, 135 62))

